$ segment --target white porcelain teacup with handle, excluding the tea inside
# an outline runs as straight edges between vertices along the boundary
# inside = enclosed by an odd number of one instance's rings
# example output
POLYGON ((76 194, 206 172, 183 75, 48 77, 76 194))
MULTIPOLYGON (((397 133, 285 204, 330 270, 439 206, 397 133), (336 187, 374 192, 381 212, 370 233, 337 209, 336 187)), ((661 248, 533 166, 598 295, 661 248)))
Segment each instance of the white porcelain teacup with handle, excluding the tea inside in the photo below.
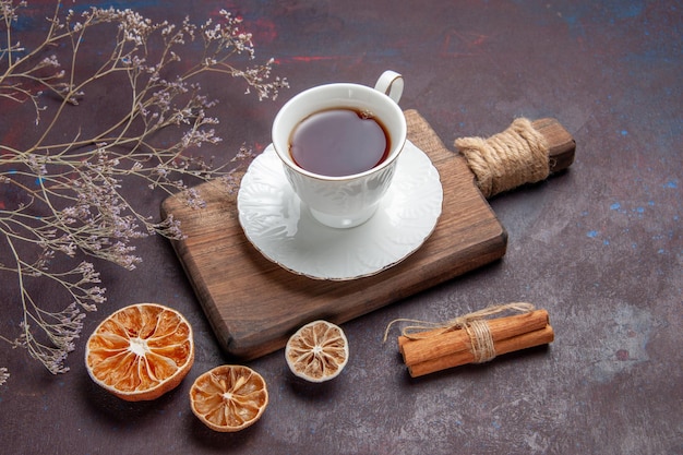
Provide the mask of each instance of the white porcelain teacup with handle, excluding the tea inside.
POLYGON ((392 183, 406 142, 406 118, 398 107, 402 94, 402 75, 385 71, 374 88, 349 83, 309 88, 287 101, 275 117, 273 146, 284 164, 287 180, 311 215, 323 225, 355 227, 375 213, 392 183), (343 177, 323 176, 298 166, 289 151, 293 130, 309 116, 335 108, 371 111, 385 127, 390 139, 386 159, 370 170, 343 177))

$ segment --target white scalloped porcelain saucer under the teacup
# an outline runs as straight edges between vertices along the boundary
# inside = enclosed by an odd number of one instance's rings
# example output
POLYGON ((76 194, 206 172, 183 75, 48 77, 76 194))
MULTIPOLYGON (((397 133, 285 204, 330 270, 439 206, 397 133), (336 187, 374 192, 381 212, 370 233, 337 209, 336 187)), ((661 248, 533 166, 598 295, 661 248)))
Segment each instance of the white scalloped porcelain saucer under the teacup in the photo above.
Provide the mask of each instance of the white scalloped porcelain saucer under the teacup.
POLYGON ((247 238, 268 260, 316 279, 355 279, 382 272, 432 234, 443 201, 439 172, 409 141, 378 212, 349 229, 323 226, 293 193, 268 145, 242 178, 237 206, 247 238))

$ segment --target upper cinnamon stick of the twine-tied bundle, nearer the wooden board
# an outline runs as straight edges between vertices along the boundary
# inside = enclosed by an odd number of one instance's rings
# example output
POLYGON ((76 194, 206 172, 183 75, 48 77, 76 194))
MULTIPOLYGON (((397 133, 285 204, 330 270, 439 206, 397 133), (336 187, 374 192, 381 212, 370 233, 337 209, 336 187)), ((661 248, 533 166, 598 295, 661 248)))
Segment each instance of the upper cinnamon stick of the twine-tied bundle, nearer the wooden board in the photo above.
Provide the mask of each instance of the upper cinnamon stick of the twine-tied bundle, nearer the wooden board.
MULTIPOLYGON (((543 328, 548 325, 548 322, 549 316, 546 310, 487 320, 496 352, 499 352, 498 342, 543 328)), ((419 334, 420 338, 418 339, 399 336, 398 346, 404 362, 407 366, 412 366, 430 360, 439 360, 445 356, 454 356, 458 352, 470 352, 471 340, 467 331, 464 328, 443 331, 443 328, 439 328, 422 332, 419 334)), ((471 360, 468 362, 471 362, 471 360)))

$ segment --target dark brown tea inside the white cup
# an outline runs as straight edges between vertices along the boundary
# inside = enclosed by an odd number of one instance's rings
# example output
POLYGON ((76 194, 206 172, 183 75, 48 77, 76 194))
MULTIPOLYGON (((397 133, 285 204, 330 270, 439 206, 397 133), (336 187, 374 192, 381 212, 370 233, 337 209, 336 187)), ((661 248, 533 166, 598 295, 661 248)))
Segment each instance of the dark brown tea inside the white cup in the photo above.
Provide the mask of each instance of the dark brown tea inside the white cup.
POLYGON ((361 173, 383 163, 392 144, 369 110, 333 108, 303 119, 291 133, 289 153, 309 172, 327 177, 361 173))

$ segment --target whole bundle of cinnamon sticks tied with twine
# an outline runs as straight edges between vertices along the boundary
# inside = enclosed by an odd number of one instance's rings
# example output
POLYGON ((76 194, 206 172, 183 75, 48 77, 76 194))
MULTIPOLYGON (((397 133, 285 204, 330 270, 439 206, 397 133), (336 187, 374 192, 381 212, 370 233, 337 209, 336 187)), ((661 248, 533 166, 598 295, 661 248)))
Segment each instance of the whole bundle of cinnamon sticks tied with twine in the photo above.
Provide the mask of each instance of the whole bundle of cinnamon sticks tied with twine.
POLYGON ((548 312, 526 302, 493 306, 441 323, 394 320, 386 327, 384 340, 398 322, 412 323, 403 328, 398 346, 414 378, 465 363, 488 362, 498 355, 554 339, 548 312), (501 316, 511 311, 518 314, 501 316))

